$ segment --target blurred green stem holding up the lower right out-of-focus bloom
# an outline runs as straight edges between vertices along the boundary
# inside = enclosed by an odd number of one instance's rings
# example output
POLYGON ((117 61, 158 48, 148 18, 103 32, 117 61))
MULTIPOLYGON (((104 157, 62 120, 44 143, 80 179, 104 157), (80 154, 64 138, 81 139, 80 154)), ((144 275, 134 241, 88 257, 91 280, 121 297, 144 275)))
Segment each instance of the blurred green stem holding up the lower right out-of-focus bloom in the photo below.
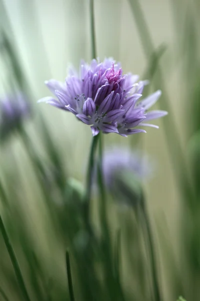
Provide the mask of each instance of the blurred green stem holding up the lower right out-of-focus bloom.
MULTIPOLYGON (((142 194, 142 193, 141 193, 142 194)), ((151 230, 150 221, 148 218, 148 214, 146 212, 145 207, 145 200, 143 194, 141 195, 141 205, 139 206, 141 210, 141 224, 143 226, 144 237, 146 235, 147 238, 147 246, 149 248, 149 255, 150 255, 150 267, 152 272, 152 282, 153 282, 153 291, 154 291, 154 300, 161 301, 161 293, 159 288, 159 281, 158 281, 158 274, 157 274, 157 266, 156 266, 156 252, 154 250, 154 243, 153 243, 153 234, 151 230)))

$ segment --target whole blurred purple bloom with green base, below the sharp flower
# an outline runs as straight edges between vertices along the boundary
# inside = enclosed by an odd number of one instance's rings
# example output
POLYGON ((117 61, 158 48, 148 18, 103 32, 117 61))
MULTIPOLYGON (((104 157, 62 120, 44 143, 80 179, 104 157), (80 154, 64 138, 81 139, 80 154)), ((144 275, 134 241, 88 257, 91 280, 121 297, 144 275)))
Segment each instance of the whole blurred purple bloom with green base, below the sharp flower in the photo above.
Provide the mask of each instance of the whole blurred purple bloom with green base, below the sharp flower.
POLYGON ((105 151, 102 170, 105 186, 114 200, 128 208, 142 200, 141 182, 153 175, 154 164, 137 150, 115 146, 105 151))

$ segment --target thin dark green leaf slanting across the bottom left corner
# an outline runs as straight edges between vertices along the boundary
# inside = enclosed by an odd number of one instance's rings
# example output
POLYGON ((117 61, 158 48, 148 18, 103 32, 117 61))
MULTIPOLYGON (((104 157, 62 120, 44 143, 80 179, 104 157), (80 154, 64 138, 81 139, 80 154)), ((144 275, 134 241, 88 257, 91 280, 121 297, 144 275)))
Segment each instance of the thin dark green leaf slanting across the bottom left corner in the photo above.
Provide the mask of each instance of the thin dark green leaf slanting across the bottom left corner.
POLYGON ((0 216, 0 231, 1 231, 4 243, 5 243, 5 246, 7 248, 10 260, 12 262, 12 266, 14 268, 14 272, 15 272, 15 275, 16 275, 19 287, 21 288, 21 291, 23 293, 24 300, 30 301, 30 298, 28 296, 28 292, 27 292, 26 287, 25 287, 25 283, 23 281, 23 277, 22 277, 22 274, 21 274, 21 271, 20 271, 20 267, 19 267, 18 261, 16 259, 16 256, 14 254, 14 250, 12 248, 12 245, 10 243, 9 237, 8 237, 7 232, 5 230, 5 227, 3 225, 3 221, 1 219, 1 216, 0 216))

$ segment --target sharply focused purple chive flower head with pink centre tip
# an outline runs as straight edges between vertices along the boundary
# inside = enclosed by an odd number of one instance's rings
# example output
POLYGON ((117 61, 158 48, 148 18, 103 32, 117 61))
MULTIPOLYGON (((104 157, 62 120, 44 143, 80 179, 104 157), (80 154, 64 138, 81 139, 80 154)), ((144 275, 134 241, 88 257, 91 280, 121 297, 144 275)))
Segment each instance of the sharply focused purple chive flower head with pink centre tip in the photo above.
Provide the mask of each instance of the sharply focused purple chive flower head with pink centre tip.
POLYGON ((158 90, 139 100, 146 81, 139 81, 137 75, 122 74, 119 63, 113 59, 103 62, 92 60, 90 65, 80 63, 79 75, 73 70, 64 83, 54 79, 46 81, 53 97, 44 97, 38 102, 46 102, 55 107, 72 112, 79 120, 90 125, 92 135, 114 132, 127 136, 145 132, 136 126, 156 125, 143 123, 167 114, 166 111, 148 109, 157 101, 158 90))

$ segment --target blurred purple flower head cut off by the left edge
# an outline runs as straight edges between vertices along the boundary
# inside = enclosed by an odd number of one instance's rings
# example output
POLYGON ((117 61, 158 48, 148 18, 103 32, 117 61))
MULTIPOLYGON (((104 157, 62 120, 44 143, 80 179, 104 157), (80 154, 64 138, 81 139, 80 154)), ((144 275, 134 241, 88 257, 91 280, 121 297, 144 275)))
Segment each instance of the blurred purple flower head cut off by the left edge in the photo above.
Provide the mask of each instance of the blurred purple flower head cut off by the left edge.
POLYGON ((18 128, 29 115, 30 107, 24 94, 18 92, 0 98, 0 137, 18 128))

